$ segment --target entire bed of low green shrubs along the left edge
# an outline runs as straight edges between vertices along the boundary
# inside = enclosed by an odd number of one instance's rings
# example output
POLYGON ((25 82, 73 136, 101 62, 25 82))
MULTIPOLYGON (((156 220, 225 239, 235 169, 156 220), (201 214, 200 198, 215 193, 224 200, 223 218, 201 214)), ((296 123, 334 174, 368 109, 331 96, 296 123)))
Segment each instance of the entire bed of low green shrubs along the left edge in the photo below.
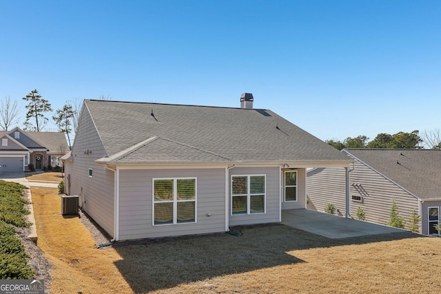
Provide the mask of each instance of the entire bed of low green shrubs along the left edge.
POLYGON ((11 226, 30 226, 25 220, 29 211, 24 208, 28 201, 22 197, 23 189, 23 185, 0 180, 0 280, 31 279, 34 275, 29 256, 11 226))

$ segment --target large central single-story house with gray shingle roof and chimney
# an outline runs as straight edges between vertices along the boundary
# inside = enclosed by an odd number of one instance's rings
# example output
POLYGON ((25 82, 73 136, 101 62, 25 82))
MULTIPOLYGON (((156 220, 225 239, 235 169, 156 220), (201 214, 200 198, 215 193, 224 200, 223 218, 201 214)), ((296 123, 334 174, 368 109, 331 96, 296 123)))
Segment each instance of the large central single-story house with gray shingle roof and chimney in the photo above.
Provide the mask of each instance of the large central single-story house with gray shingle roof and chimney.
POLYGON ((66 193, 114 240, 228 231, 305 209, 307 167, 347 156, 267 109, 85 100, 66 193))

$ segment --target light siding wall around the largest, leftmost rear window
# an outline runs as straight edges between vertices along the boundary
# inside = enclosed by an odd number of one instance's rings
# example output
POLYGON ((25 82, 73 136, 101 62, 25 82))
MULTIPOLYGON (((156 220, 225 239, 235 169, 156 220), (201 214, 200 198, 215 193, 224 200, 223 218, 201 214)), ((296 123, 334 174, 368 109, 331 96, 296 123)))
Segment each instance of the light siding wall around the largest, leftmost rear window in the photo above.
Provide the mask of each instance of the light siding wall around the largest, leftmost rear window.
POLYGON ((119 240, 225 231, 225 169, 121 169, 119 182, 119 240), (196 178, 196 223, 153 225, 153 178, 196 178))

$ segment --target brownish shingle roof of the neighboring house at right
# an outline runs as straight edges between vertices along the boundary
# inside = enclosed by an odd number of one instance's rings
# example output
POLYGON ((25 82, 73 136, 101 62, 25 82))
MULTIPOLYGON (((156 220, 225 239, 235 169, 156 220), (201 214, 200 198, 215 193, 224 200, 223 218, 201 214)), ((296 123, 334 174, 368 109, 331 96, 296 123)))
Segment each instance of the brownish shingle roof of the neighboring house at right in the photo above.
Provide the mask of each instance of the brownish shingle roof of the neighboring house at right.
POLYGON ((441 199, 441 150, 343 149, 420 199, 441 199))

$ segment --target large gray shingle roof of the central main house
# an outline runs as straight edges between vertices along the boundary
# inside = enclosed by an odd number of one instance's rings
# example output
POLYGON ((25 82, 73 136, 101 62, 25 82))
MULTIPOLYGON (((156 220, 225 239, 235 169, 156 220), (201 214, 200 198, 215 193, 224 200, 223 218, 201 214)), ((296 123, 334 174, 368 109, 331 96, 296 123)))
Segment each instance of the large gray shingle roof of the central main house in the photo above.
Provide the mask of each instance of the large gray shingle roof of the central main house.
POLYGON ((107 155, 119 162, 349 162, 267 109, 94 100, 85 105, 107 155))

